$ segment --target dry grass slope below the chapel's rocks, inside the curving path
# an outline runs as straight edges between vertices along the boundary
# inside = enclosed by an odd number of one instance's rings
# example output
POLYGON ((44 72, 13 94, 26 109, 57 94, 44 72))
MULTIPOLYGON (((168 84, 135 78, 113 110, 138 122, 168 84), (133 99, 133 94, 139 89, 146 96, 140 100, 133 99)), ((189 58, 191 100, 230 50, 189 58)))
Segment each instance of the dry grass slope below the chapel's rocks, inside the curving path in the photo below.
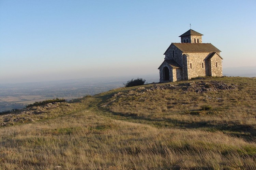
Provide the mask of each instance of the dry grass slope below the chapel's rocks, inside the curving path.
POLYGON ((110 98, 107 107, 113 114, 132 116, 137 122, 146 120, 159 127, 218 130, 256 140, 256 79, 219 80, 235 83, 237 89, 198 94, 183 89, 145 92, 137 87, 110 98), (203 109, 206 106, 210 109, 203 109))

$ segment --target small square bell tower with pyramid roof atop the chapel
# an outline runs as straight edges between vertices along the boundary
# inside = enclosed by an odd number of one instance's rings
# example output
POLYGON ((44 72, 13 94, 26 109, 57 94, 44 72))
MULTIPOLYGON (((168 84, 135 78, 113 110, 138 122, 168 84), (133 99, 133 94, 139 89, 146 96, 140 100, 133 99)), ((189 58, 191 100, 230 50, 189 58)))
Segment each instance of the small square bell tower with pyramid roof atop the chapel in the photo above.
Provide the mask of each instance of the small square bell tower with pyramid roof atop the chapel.
POLYGON ((190 29, 179 37, 181 43, 202 43, 202 35, 203 34, 190 29))

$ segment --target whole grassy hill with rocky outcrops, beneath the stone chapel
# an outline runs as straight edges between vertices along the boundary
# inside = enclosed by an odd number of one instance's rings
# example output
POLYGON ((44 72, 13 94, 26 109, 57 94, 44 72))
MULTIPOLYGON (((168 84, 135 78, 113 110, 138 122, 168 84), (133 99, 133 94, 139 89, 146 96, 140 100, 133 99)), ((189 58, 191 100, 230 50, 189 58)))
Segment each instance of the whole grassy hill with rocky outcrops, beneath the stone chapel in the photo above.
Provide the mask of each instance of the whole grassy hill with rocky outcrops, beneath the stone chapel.
POLYGON ((256 169, 256 78, 119 88, 0 116, 0 169, 256 169))

